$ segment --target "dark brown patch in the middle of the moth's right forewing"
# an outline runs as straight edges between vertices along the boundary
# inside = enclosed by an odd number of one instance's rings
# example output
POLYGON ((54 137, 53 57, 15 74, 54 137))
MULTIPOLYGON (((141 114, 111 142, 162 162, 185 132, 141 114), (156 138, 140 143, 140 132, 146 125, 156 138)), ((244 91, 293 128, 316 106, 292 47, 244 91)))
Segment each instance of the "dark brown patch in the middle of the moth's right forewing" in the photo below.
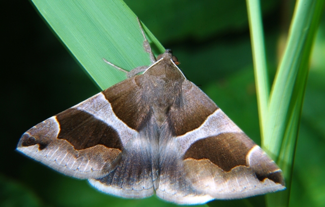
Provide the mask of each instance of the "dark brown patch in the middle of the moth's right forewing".
POLYGON ((246 155, 255 145, 243 133, 223 133, 200 139, 191 144, 184 159, 208 159, 224 171, 238 165, 248 166, 246 155))

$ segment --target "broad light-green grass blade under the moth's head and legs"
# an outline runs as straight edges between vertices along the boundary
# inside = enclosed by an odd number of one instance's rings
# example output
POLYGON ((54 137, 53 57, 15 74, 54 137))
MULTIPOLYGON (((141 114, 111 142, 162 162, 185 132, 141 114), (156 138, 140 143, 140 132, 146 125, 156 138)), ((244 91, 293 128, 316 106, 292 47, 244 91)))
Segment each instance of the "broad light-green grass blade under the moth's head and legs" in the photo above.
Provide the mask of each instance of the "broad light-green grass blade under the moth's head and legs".
MULTIPOLYGON (((55 34, 102 90, 125 79, 126 70, 149 65, 136 15, 119 0, 32 0, 55 34)), ((163 46, 145 28, 159 52, 163 46)))

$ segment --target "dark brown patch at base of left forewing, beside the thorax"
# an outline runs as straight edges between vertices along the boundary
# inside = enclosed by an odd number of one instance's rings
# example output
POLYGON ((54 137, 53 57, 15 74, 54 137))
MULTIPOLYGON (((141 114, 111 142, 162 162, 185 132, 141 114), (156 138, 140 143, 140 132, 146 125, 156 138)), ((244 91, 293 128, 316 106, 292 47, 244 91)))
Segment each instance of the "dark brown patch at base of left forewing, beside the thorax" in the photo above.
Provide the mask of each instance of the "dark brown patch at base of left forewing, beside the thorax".
POLYGON ((102 92, 118 119, 137 131, 142 129, 151 114, 148 100, 140 88, 142 78, 138 75, 126 79, 102 92))

